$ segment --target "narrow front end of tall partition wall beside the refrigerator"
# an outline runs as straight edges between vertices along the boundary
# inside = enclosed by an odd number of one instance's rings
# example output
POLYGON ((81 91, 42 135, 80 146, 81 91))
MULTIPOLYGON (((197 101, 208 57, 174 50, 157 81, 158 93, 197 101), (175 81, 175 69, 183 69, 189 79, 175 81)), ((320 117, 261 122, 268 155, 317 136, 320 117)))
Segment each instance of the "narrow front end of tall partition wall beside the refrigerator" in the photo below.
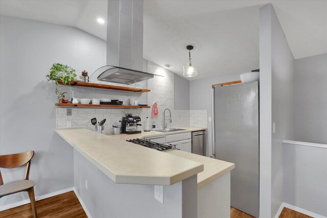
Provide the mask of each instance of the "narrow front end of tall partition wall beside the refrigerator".
POLYGON ((271 16, 259 9, 260 42, 260 217, 271 217, 271 16))

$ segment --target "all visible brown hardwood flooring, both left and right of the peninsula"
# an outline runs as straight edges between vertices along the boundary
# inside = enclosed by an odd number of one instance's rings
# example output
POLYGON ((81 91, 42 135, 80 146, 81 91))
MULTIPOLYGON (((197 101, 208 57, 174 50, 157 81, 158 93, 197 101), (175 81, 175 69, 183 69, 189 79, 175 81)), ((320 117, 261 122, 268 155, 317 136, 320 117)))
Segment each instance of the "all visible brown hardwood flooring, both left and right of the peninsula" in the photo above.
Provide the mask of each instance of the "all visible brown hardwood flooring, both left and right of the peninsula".
MULTIPOLYGON (((36 202, 36 210, 39 218, 45 217, 74 217, 87 218, 82 205, 78 201, 74 191, 69 191, 58 196, 43 199, 36 202)), ((0 217, 6 218, 30 218, 33 217, 31 204, 25 204, 9 210, 0 212, 0 217)), ((238 209, 230 207, 230 218, 254 218, 238 209)), ((313 218, 294 210, 283 209, 279 218, 313 218)))

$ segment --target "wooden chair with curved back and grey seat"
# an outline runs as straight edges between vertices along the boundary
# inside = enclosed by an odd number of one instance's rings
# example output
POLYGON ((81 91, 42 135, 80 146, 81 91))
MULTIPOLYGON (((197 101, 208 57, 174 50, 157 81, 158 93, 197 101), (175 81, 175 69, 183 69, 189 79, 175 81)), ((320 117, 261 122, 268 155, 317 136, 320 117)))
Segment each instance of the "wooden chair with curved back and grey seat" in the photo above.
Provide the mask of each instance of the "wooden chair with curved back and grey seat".
POLYGON ((1 168, 15 168, 18 166, 26 165, 26 173, 24 180, 17 180, 4 184, 0 171, 0 198, 17 193, 20 191, 27 191, 31 200, 33 217, 37 217, 34 186, 36 183, 29 180, 31 159, 34 156, 34 151, 29 151, 19 154, 0 155, 0 167, 1 168))

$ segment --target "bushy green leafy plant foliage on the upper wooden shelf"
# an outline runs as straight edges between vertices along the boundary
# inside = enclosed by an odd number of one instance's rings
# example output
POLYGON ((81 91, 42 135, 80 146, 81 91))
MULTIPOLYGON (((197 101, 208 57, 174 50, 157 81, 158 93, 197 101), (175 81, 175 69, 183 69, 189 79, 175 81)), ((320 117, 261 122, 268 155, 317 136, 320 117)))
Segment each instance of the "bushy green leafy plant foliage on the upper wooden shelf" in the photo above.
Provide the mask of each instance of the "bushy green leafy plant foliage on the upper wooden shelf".
POLYGON ((63 85, 71 84, 72 81, 77 81, 75 69, 73 69, 71 66, 60 63, 54 63, 50 68, 50 74, 46 75, 45 77, 48 79, 48 81, 54 80, 56 85, 58 85, 58 80, 61 80, 63 85))

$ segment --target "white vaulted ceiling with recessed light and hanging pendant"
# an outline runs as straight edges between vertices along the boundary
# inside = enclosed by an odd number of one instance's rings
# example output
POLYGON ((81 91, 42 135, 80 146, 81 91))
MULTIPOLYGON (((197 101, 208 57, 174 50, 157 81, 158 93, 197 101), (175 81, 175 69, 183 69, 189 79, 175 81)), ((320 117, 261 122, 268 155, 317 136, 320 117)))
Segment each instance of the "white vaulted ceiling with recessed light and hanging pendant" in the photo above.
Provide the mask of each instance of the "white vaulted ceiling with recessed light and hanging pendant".
MULTIPOLYGON (((144 58, 198 77, 259 67, 259 8, 272 3, 295 59, 327 53, 327 1, 145 1, 144 58)), ((77 27, 106 39, 107 1, 0 1, 0 14, 77 27)))

